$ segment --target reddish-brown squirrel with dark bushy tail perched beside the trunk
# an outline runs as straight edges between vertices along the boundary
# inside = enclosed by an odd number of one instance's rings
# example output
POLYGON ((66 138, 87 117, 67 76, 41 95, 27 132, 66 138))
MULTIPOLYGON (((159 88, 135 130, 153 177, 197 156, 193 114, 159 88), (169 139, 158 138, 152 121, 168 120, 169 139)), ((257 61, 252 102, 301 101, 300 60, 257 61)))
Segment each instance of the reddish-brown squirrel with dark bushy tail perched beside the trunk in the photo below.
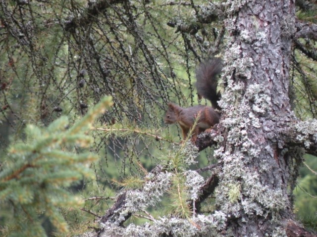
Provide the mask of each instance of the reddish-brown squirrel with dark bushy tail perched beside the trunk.
POLYGON ((213 58, 204 63, 201 63, 196 69, 197 92, 199 98, 205 97, 211 101, 211 106, 195 105, 188 108, 183 108, 174 103, 168 103, 168 109, 165 114, 165 124, 178 123, 182 129, 183 139, 186 140, 188 132, 193 128, 197 118, 197 125, 194 128, 192 140, 195 143, 197 136, 207 129, 213 127, 219 122, 220 114, 215 109, 220 111, 217 101, 220 99, 220 94, 217 93, 217 78, 216 76, 222 70, 221 59, 213 58))

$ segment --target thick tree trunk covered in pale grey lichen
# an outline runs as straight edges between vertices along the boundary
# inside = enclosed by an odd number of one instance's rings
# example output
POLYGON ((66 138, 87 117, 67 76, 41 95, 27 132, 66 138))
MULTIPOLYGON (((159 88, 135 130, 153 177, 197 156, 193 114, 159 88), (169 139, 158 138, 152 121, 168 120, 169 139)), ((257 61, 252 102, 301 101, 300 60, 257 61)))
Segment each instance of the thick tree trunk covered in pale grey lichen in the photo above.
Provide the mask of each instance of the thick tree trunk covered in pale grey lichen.
POLYGON ((302 152, 289 147, 283 133, 296 121, 288 96, 294 22, 294 0, 267 0, 248 2, 225 23, 228 90, 215 152, 222 163, 216 203, 234 236, 285 235, 294 218, 302 152))

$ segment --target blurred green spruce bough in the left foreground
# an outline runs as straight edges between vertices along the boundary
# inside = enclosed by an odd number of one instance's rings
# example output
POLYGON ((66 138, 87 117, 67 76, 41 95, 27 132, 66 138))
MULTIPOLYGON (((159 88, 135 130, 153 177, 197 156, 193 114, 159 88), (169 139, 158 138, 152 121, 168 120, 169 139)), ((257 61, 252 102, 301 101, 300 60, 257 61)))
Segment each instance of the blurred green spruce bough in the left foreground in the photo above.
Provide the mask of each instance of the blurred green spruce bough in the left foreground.
MULTIPOLYGON (((85 134, 95 119, 112 105, 105 97, 73 126, 66 116, 47 128, 27 125, 26 139, 12 144, 0 171, 1 205, 11 217, 2 229, 5 236, 46 236, 42 218, 47 217, 59 233, 68 227, 60 208, 80 207, 83 200, 67 189, 83 178, 93 179, 89 164, 98 159, 85 151, 92 138, 85 134), (87 165, 88 164, 88 165, 87 165)), ((1 215, 0 215, 1 217, 1 215)))

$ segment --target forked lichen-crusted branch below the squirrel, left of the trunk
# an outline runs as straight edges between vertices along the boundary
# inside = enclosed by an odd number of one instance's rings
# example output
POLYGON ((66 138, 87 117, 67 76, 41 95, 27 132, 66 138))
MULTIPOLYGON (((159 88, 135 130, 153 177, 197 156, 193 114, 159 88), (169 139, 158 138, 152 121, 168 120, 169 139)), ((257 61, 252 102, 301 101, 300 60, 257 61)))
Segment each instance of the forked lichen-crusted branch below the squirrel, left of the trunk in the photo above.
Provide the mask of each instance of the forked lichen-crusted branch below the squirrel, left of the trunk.
POLYGON ((144 211, 147 207, 156 206, 163 193, 170 189, 175 174, 166 171, 165 168, 159 165, 144 178, 145 183, 141 189, 121 191, 112 207, 100 218, 100 228, 82 236, 195 237, 198 235, 206 236, 207 234, 217 236, 227 225, 226 215, 219 211, 215 211, 208 216, 197 213, 197 210, 200 209, 200 203, 217 186, 218 169, 215 170, 206 182, 196 171, 186 171, 183 174, 186 177, 185 187, 183 188, 188 192, 188 203, 195 203, 198 207, 194 210, 195 214, 192 217, 180 218, 172 214, 169 217, 162 216, 156 219, 152 217, 152 223, 140 226, 135 224, 129 224, 127 227, 123 226, 123 223, 131 215, 144 211))

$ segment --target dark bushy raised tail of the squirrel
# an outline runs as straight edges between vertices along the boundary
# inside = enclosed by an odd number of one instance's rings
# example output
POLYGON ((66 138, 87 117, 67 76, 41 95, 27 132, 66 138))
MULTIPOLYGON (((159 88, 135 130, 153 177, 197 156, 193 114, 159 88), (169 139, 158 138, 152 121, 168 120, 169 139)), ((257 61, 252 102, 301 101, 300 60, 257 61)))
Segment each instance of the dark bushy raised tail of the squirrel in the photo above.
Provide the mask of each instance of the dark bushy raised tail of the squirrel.
POLYGON ((212 58, 201 63, 196 69, 197 92, 211 101, 212 107, 219 109, 217 101, 220 99, 220 93, 217 93, 217 75, 222 70, 222 61, 220 58, 212 58))

